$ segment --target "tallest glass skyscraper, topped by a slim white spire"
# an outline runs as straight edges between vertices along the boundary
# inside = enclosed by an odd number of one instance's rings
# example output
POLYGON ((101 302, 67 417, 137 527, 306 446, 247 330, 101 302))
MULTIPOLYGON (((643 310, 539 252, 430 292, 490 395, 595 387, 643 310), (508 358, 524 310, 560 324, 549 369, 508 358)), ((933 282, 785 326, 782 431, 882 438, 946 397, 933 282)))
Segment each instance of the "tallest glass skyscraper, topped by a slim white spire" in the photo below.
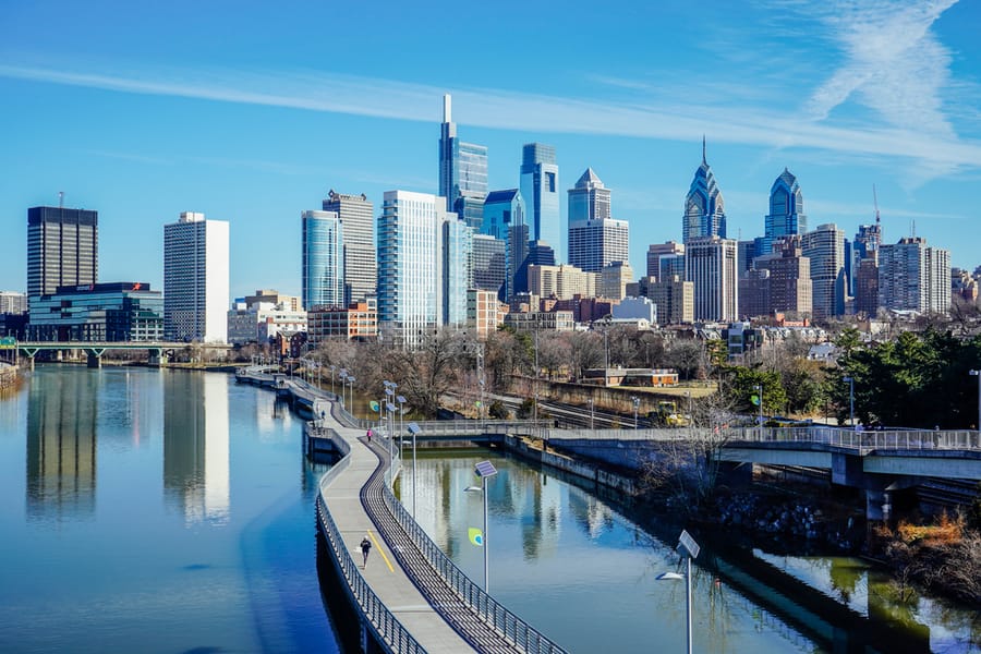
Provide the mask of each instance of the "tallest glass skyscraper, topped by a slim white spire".
POLYGON ((452 121, 452 101, 443 96, 443 124, 439 128, 439 195, 446 210, 480 231, 487 197, 487 146, 465 143, 457 137, 452 121))

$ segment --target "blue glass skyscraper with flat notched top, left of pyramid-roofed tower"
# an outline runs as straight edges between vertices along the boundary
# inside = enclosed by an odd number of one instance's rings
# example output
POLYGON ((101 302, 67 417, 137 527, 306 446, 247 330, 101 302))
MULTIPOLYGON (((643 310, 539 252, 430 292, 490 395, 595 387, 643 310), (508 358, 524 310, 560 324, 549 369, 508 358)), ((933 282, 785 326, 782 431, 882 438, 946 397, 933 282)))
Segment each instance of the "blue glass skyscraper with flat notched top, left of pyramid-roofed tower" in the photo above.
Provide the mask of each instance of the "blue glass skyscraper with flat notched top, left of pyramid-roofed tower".
POLYGON ((544 241, 555 252, 556 261, 565 262, 558 184, 555 147, 525 144, 521 156, 521 195, 528 207, 530 240, 544 241))

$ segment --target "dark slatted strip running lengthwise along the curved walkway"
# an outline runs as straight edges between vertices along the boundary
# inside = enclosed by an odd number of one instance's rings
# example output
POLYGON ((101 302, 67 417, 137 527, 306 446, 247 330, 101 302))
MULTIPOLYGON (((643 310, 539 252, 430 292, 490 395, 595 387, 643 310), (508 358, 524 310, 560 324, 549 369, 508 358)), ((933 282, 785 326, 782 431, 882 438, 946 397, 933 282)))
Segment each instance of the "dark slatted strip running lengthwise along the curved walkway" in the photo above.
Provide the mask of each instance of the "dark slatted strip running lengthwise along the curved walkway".
MULTIPOLYGON (((360 439, 368 445, 364 438, 360 439)), ((523 652, 494 629, 429 565, 409 534, 385 504, 383 495, 388 452, 379 444, 368 447, 378 457, 378 467, 361 489, 361 505, 415 588, 433 608, 476 651, 487 654, 523 652)))

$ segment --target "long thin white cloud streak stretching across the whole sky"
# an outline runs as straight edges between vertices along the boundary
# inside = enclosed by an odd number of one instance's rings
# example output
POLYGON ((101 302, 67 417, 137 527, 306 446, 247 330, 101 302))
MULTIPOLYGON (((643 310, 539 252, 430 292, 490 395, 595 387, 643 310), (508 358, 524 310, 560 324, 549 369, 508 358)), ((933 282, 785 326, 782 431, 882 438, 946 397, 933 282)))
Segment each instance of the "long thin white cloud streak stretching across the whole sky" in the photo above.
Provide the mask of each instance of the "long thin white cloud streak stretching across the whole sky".
MULTIPOLYGON (((411 121, 439 119, 440 96, 467 123, 540 133, 584 133, 692 142, 708 132, 714 142, 775 148, 815 148, 849 156, 877 156, 920 170, 981 167, 981 143, 958 140, 949 129, 927 132, 898 118, 888 125, 846 128, 796 112, 758 106, 602 102, 486 88, 439 88, 382 78, 320 72, 235 70, 87 71, 0 64, 0 76, 53 84, 227 102, 289 107, 411 121)), ((898 82, 897 82, 898 84, 898 82)), ((829 106, 827 100, 824 106, 829 106)), ((938 124, 943 124, 941 121, 938 124)))

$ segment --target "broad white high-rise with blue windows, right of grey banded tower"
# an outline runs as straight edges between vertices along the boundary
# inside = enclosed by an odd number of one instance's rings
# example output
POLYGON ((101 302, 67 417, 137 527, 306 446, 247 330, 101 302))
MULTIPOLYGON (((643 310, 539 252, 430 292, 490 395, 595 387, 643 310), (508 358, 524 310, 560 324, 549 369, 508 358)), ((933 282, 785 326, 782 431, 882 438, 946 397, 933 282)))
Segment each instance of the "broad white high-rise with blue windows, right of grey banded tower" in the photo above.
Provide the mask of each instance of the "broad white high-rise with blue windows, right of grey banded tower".
MULTIPOLYGON (((378 327, 383 338, 391 336, 412 349, 445 324, 448 307, 447 278, 453 288, 468 278, 465 246, 451 247, 446 256, 446 238, 456 237, 457 215, 446 210, 446 199, 428 193, 387 191, 378 216, 378 327)), ((459 226, 465 227, 465 226, 459 226)), ((463 289, 463 319, 467 295, 463 289)), ((456 311, 451 312, 456 315, 456 311)))

